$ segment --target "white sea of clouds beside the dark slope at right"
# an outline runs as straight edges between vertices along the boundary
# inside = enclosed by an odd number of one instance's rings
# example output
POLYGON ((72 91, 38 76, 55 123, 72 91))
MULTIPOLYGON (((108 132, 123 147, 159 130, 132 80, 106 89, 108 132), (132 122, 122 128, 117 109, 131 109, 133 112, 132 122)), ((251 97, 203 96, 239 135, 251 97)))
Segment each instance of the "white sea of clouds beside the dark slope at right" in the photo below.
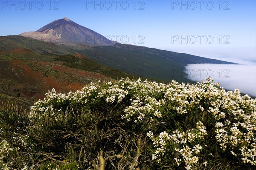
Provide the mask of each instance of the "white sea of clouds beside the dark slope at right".
POLYGON ((189 64, 185 72, 192 81, 204 81, 211 77, 215 83, 220 82, 227 90, 239 89, 256 97, 256 63, 230 58, 215 58, 239 64, 189 64))

